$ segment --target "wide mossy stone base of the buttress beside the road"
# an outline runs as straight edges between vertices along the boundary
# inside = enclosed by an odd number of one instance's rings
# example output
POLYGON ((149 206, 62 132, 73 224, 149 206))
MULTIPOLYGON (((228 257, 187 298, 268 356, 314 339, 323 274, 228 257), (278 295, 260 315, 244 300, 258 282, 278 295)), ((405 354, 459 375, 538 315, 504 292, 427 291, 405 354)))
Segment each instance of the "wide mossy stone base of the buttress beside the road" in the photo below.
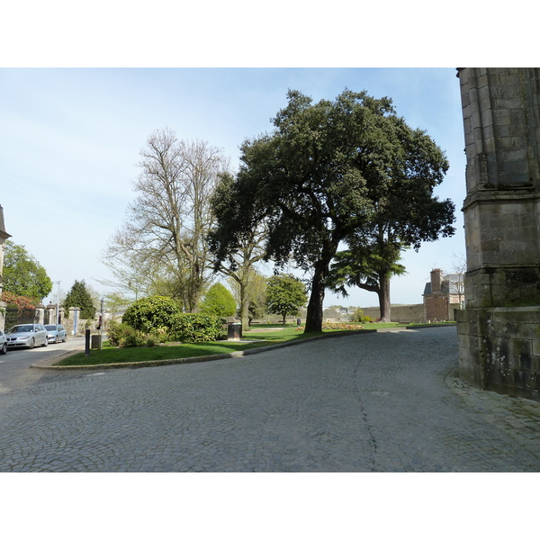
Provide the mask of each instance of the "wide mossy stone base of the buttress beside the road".
POLYGON ((460 377, 540 401, 540 306, 467 309, 456 317, 460 377))

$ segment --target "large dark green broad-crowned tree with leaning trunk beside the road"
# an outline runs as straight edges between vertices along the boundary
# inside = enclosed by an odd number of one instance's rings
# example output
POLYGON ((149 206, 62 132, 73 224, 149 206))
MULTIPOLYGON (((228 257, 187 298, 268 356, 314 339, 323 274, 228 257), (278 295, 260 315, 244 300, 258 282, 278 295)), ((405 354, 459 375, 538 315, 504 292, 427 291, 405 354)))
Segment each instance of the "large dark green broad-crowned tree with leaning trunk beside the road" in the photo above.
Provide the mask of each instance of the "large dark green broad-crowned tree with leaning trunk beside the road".
POLYGON ((305 331, 320 331, 340 242, 357 233, 373 245, 390 225, 400 247, 453 234, 453 203, 432 196, 448 163, 428 135, 397 116, 392 100, 365 92, 346 90, 313 104, 289 91, 274 125, 271 134, 242 145, 212 249, 226 260, 265 223, 266 260, 285 266, 293 257, 311 273, 305 331))

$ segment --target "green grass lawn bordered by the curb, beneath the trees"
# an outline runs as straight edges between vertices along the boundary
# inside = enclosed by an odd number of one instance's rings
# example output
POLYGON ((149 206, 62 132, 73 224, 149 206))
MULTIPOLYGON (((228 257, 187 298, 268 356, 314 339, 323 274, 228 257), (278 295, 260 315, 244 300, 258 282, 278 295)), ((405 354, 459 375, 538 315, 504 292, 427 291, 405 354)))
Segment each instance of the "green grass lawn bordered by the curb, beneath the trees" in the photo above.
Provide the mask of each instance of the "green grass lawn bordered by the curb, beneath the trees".
MULTIPOLYGON (((101 350, 91 350, 90 356, 77 353, 59 361, 56 365, 103 365, 123 364, 129 362, 150 362, 155 360, 172 360, 179 358, 191 358, 197 356, 211 356, 245 351, 255 347, 276 345, 288 341, 305 338, 314 338, 325 334, 350 331, 351 329, 385 329, 397 328, 398 323, 364 323, 362 325, 347 324, 343 328, 324 329, 322 332, 306 334, 289 324, 284 327, 279 325, 261 324, 243 332, 243 339, 247 341, 209 341, 203 343, 183 343, 179 345, 167 345, 157 347, 110 347, 105 341, 101 350)), ((402 325, 401 325, 402 326, 402 325)))

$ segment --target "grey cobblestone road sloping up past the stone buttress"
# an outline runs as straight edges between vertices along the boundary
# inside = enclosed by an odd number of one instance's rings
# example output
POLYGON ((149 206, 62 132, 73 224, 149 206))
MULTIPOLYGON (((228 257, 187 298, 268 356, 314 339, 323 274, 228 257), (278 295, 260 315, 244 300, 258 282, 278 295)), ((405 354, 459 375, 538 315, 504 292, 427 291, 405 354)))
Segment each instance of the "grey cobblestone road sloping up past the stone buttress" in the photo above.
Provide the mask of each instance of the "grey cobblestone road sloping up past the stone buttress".
POLYGON ((0 395, 0 471, 540 471, 540 403, 469 388, 456 359, 437 328, 54 375, 0 395))

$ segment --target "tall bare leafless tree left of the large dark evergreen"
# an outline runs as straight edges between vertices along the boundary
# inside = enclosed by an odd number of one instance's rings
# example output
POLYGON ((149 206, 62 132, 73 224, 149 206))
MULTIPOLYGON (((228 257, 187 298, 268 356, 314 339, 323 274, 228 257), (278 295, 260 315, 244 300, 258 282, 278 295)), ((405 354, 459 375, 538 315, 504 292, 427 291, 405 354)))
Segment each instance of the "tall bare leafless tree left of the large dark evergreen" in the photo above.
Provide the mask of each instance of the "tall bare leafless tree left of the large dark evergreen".
POLYGON ((179 140, 169 129, 152 133, 140 156, 141 172, 133 184, 138 195, 104 258, 114 266, 120 254, 118 260, 134 270, 132 279, 148 286, 149 275, 154 290, 166 285, 185 311, 197 311, 211 277, 210 197, 228 159, 219 148, 200 140, 179 140), (146 270, 147 283, 140 279, 139 268, 146 270))

